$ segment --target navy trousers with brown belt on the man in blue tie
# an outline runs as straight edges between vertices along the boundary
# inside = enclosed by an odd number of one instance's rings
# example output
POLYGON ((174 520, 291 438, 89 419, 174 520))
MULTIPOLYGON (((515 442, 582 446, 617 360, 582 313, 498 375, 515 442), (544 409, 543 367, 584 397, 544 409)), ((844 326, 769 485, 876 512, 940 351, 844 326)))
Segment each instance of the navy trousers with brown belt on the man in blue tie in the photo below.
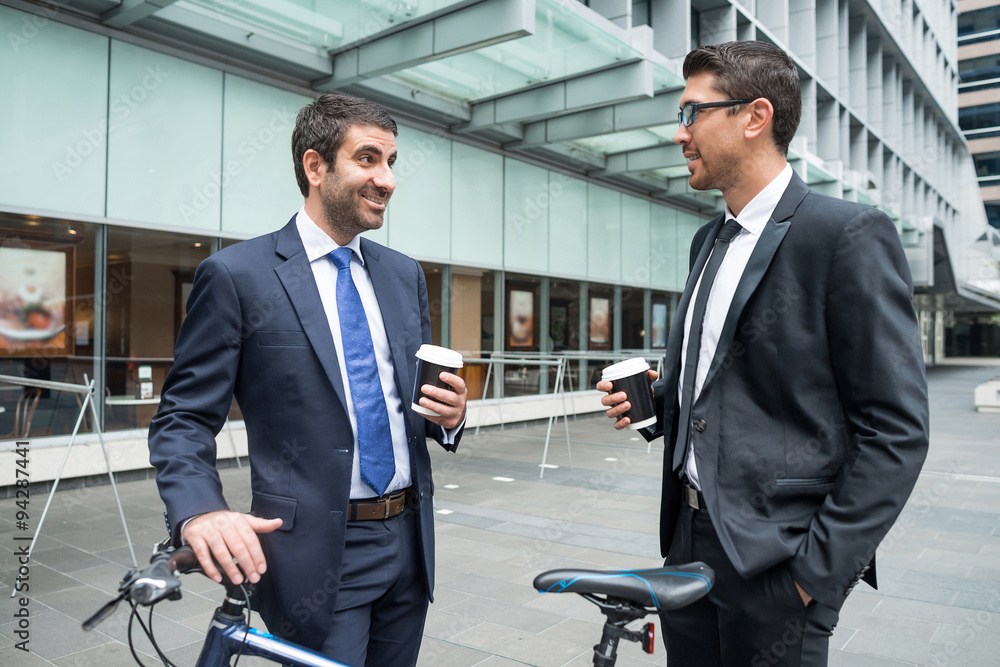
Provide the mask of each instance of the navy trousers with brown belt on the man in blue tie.
POLYGON ((349 521, 333 627, 322 653, 351 667, 415 665, 427 617, 417 514, 349 521))

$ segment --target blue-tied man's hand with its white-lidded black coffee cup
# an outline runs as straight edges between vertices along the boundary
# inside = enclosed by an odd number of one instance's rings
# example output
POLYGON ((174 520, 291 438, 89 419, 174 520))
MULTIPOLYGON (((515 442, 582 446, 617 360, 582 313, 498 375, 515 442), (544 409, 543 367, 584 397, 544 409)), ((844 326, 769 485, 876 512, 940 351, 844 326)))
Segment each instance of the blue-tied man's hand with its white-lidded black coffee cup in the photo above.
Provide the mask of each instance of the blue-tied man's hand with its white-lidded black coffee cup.
POLYGON ((458 376, 462 355, 446 347, 421 345, 416 356, 411 407, 444 428, 458 426, 465 417, 467 393, 465 381, 458 376))

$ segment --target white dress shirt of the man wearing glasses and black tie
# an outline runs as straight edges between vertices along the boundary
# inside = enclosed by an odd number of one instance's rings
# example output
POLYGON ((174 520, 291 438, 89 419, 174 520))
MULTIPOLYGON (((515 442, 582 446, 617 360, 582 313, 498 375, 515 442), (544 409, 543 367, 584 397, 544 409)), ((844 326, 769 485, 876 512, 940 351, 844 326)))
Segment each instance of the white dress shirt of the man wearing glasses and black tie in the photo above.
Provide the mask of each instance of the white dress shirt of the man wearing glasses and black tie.
MULTIPOLYGON (((726 206, 726 220, 736 220, 742 229, 729 242, 729 250, 726 252, 719 273, 715 276, 715 284, 710 286, 708 302, 705 306, 705 322, 701 335, 701 348, 698 352, 698 368, 694 379, 693 401, 697 402, 701 394, 701 388, 708 377, 708 369, 715 357, 715 350, 719 345, 719 336, 722 334, 722 327, 729 316, 729 308, 733 303, 733 296, 736 288, 743 277, 743 271, 750 261, 753 249, 757 247, 761 232, 767 226, 774 213, 774 207, 778 205, 781 195, 792 180, 792 167, 785 164, 785 168, 774 178, 773 181, 757 193, 757 196, 750 200, 737 218, 726 206)), ((711 256, 711 255, 710 255, 711 256)), ((707 264, 707 262, 706 262, 707 264)), ((704 271, 704 269, 702 269, 704 271)), ((677 400, 682 400, 684 391, 684 367, 687 364, 688 336, 691 335, 691 310, 692 305, 698 298, 698 290, 701 289, 701 277, 695 285, 691 299, 688 301, 688 310, 684 316, 684 340, 681 345, 681 370, 680 381, 677 383, 677 400)), ((687 467, 684 469, 688 479, 696 489, 701 489, 698 479, 698 466, 695 463, 694 447, 690 447, 687 457, 687 467)))

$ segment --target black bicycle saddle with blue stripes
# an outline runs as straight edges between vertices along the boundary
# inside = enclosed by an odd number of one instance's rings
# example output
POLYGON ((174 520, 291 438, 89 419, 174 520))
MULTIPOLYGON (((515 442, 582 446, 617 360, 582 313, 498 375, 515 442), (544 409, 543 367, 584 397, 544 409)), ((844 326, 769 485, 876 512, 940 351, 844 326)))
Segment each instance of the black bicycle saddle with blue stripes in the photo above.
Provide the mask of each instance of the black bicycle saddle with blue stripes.
POLYGON ((712 589, 715 572, 704 563, 653 570, 550 570, 535 577, 539 593, 600 594, 657 611, 687 606, 712 589))

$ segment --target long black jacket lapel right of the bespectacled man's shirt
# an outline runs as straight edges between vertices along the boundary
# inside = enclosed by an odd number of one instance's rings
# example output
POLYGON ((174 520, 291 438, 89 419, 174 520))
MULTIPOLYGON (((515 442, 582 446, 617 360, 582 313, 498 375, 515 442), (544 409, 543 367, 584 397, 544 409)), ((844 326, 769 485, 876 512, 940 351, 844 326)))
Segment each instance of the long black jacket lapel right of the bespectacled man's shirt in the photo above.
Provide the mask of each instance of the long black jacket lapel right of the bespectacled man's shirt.
POLYGON ((725 361, 726 355, 729 354, 729 348, 733 343, 733 337, 736 335, 736 325, 739 322, 740 315, 743 314, 743 308, 747 305, 747 301, 750 300, 750 297, 767 272, 767 268, 771 265, 771 260, 774 259, 774 254, 778 251, 778 246, 781 245, 785 234, 788 232, 788 228, 792 224, 790 220, 792 214, 795 213, 795 209, 798 208, 798 205, 808 192, 808 186, 793 172, 792 180, 789 181, 788 187, 785 188, 785 193, 778 200, 778 205, 774 207, 771 219, 764 226, 764 231, 761 232, 753 254, 750 255, 750 261, 743 270, 743 276, 736 286, 736 293, 733 295, 733 302, 729 306, 729 313, 726 315, 726 322, 722 327, 722 333, 719 335, 719 344, 715 349, 715 356, 712 358, 712 365, 708 369, 708 375, 705 378, 705 384, 702 385, 702 391, 705 391, 705 387, 715 377, 715 374, 725 361))

